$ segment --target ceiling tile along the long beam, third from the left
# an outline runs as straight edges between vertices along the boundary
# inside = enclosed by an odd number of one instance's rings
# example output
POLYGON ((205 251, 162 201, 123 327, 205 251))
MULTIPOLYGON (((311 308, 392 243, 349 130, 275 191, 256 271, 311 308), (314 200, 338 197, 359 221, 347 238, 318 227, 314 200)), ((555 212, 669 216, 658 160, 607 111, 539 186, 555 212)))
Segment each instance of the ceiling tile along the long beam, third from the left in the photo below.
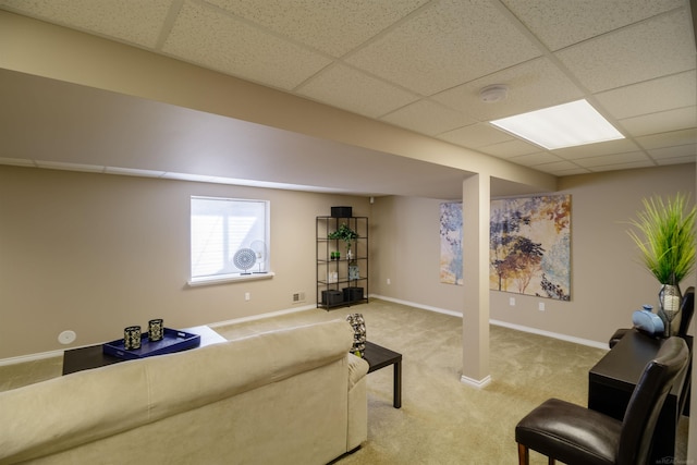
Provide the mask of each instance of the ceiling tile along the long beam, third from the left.
POLYGON ((378 118, 418 96, 343 64, 330 66, 304 84, 298 94, 369 118, 378 118))

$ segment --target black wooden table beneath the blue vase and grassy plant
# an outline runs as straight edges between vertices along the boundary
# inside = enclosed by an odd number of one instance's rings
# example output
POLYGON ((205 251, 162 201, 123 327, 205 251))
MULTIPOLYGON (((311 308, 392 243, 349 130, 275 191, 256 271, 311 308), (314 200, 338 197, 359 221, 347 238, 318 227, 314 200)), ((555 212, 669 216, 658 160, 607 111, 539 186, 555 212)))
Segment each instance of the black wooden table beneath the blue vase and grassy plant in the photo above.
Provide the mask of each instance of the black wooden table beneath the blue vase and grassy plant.
MULTIPOLYGON (((681 413, 689 403, 693 338, 685 336, 690 360, 677 376, 656 425, 650 463, 673 463, 675 433, 681 413), (669 461, 669 462, 665 462, 669 461)), ((646 364, 652 360, 664 339, 656 339, 637 330, 627 333, 588 372, 588 408, 616 419, 624 418, 634 387, 646 364)))

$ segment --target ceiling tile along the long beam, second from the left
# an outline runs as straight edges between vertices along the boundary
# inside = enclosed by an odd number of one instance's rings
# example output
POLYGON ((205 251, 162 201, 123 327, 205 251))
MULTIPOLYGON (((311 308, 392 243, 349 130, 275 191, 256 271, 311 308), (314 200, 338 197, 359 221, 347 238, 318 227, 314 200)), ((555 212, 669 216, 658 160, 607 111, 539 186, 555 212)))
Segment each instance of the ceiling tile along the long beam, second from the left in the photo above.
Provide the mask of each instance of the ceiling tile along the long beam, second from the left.
POLYGON ((292 89, 331 61, 228 14, 186 2, 162 50, 223 73, 292 89))

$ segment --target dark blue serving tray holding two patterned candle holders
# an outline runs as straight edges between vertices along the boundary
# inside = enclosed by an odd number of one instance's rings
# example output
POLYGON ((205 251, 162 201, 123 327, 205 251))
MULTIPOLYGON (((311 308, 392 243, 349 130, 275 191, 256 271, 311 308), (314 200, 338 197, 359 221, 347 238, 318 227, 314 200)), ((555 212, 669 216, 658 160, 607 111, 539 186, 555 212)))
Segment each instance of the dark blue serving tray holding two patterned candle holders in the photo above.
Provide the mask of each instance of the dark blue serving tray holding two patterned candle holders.
POLYGON ((179 331, 164 328, 164 335, 160 341, 150 342, 148 333, 140 334, 140 348, 126 351, 123 339, 102 344, 102 352, 114 357, 134 360, 137 358, 151 357, 154 355, 172 354, 174 352, 186 351, 200 345, 200 335, 191 332, 179 331))

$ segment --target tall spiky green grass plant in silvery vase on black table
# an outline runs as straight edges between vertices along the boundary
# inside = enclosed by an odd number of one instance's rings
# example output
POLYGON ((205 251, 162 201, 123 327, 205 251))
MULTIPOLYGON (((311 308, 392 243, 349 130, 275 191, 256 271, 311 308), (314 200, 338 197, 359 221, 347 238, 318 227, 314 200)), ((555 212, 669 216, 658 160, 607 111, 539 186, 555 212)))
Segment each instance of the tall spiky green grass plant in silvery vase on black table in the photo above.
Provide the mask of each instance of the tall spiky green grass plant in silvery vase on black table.
POLYGON ((682 295, 680 282, 695 269, 695 218, 697 206, 687 209, 687 196, 677 193, 643 200, 644 211, 629 222, 637 231, 627 233, 636 243, 646 268, 661 284, 658 315, 664 335, 680 328, 682 295))

